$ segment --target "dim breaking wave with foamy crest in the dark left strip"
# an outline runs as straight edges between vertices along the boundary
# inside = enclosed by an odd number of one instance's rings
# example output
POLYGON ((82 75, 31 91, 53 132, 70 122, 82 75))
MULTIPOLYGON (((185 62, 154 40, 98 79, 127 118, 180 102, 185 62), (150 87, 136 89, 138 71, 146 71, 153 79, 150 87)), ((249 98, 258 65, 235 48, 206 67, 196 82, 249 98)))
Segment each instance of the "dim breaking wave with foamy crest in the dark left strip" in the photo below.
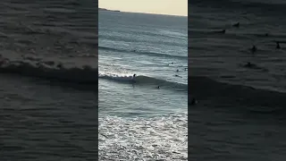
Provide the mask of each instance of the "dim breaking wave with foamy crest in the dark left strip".
POLYGON ((44 61, 26 57, 25 60, 10 60, 0 57, 0 72, 74 83, 97 84, 97 68, 89 65, 65 67, 61 62, 44 61))

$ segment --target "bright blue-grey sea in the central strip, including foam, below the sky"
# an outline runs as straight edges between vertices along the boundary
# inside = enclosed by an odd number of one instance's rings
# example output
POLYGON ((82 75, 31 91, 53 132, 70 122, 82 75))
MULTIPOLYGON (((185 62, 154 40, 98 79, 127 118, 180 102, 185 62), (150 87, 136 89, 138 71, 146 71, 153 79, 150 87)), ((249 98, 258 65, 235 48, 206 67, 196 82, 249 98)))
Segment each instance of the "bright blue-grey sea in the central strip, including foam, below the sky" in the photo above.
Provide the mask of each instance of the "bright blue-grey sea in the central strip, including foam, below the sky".
POLYGON ((187 160, 187 17, 98 19, 99 160, 187 160))

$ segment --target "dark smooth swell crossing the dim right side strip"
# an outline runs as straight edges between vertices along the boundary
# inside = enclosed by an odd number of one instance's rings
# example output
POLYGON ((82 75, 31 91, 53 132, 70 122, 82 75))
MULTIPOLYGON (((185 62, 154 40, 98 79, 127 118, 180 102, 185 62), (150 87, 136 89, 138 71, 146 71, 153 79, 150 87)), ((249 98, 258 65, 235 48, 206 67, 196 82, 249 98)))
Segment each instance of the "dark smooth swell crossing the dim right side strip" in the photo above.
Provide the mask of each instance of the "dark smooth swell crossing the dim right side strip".
MULTIPOLYGON (((267 107, 268 109, 265 112, 281 110, 286 106, 286 93, 268 89, 255 89, 199 76, 189 77, 189 100, 192 97, 196 97, 201 104, 206 106, 211 104, 211 106, 221 107, 267 107)), ((258 111, 259 109, 257 109, 258 111)))

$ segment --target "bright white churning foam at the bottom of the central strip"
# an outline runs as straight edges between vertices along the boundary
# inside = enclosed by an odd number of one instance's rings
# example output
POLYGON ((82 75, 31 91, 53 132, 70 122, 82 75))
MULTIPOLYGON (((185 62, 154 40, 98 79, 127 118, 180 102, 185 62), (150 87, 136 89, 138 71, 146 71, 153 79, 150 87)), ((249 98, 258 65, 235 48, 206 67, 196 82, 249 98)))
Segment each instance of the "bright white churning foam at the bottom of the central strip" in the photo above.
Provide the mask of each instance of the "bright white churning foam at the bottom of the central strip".
POLYGON ((99 160, 188 160, 187 114, 99 118, 99 160))

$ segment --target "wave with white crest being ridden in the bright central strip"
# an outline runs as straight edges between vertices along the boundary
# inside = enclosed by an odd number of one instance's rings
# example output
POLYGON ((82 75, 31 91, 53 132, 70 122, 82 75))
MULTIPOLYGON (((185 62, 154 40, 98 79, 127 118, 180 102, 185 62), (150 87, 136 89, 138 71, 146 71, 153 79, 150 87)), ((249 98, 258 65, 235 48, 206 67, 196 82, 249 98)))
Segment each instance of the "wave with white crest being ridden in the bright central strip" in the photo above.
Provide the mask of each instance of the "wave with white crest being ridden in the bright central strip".
POLYGON ((173 81, 160 80, 152 77, 147 77, 144 75, 139 75, 133 78, 133 76, 119 76, 116 74, 99 74, 99 78, 105 80, 114 80, 119 82, 128 82, 136 85, 149 85, 149 86, 160 86, 164 89, 174 89, 178 91, 188 91, 187 84, 181 84, 173 81))

